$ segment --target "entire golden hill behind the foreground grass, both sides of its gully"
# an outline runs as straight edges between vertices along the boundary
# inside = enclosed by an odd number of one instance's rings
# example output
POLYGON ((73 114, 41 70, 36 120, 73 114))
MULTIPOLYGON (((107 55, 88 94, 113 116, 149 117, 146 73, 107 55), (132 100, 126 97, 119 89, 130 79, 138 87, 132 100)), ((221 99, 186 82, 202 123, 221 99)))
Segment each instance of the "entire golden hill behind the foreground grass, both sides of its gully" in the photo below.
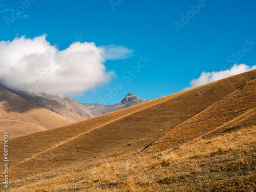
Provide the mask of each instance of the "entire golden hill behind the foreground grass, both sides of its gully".
POLYGON ((253 70, 78 123, 11 138, 12 185, 19 179, 66 173, 94 161, 170 150, 204 135, 255 124, 255 76, 253 70))

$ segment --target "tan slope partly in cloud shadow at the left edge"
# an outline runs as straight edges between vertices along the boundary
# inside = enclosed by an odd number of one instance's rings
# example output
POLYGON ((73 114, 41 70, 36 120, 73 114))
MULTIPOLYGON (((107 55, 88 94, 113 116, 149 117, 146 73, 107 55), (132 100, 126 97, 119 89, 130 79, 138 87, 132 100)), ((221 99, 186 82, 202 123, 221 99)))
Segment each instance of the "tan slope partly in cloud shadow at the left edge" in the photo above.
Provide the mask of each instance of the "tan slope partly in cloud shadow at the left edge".
POLYGON ((33 133, 73 121, 49 110, 40 108, 0 86, 0 137, 33 133))

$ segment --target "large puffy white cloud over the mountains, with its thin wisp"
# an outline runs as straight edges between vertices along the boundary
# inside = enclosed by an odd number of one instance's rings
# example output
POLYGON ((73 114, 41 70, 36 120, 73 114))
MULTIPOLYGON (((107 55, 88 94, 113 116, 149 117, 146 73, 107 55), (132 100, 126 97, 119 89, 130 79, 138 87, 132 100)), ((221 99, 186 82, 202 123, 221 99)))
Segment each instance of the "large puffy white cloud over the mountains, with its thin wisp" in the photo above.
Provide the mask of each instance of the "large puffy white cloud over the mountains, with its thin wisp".
MULTIPOLYGON (((50 45, 46 35, 0 41, 0 83, 14 90, 81 94, 108 82, 114 75, 104 66, 109 59, 104 57, 105 50, 93 42, 74 42, 59 51, 50 45)), ((111 46, 110 51, 116 59, 131 52, 122 46, 111 46)))

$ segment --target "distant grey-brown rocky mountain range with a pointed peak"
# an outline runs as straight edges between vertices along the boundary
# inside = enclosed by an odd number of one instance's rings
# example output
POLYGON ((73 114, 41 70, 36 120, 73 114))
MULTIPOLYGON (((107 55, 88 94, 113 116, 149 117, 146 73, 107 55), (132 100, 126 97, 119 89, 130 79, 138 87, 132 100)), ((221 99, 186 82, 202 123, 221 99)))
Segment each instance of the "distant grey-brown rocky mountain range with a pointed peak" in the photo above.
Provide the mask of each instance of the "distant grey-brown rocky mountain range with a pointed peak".
POLYGON ((67 117, 73 122, 89 119, 147 101, 136 97, 132 93, 128 94, 122 101, 116 104, 104 105, 99 103, 80 103, 69 96, 59 97, 44 93, 13 92, 31 103, 60 114, 63 117, 67 117))

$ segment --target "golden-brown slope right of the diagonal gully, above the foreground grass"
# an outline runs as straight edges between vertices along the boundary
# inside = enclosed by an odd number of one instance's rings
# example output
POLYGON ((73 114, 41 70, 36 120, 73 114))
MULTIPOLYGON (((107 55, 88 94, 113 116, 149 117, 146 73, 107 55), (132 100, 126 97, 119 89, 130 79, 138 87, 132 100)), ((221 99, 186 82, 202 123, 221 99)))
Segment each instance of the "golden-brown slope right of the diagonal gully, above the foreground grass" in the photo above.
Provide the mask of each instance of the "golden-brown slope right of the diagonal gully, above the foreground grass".
POLYGON ((153 151, 165 150, 170 146, 183 145, 204 134, 207 134, 205 137, 210 137, 255 124, 256 76, 236 91, 176 126, 149 148, 153 151))

